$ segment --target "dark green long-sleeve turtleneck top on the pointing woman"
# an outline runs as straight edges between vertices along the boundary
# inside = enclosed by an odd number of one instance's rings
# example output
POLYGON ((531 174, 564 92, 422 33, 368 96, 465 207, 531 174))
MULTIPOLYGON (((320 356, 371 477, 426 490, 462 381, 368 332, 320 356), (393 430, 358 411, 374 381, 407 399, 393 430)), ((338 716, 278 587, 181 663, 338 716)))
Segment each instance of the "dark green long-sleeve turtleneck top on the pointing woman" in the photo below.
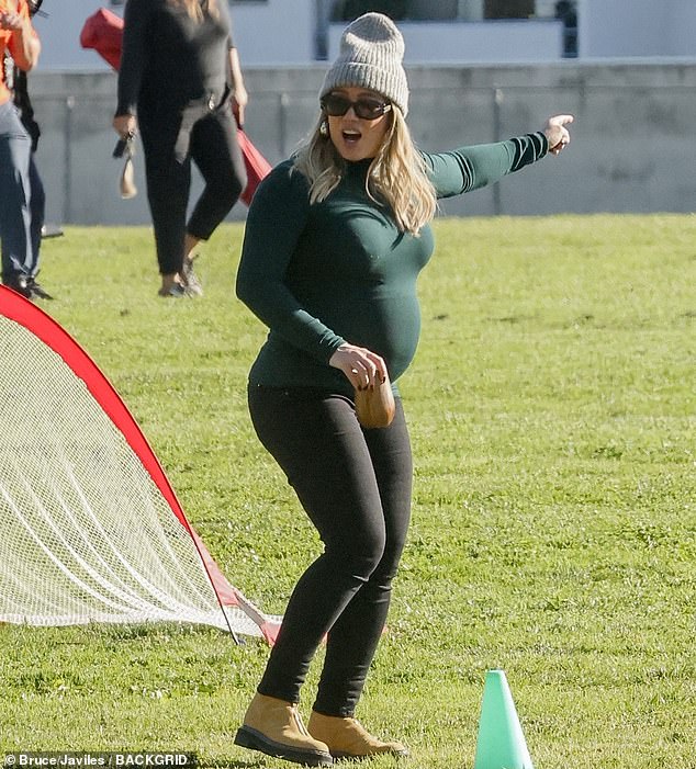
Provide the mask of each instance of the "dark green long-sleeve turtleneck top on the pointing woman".
MULTIPOLYGON (((424 154, 438 197, 491 184, 548 151, 542 133, 496 144, 424 154)), ((418 344, 416 281, 433 253, 430 226, 398 229, 366 192, 369 160, 347 163, 338 186, 310 205, 308 182, 293 160, 261 182, 249 208, 237 295, 270 331, 250 384, 318 387, 352 395, 328 361, 344 343, 384 359, 392 382, 418 344)))

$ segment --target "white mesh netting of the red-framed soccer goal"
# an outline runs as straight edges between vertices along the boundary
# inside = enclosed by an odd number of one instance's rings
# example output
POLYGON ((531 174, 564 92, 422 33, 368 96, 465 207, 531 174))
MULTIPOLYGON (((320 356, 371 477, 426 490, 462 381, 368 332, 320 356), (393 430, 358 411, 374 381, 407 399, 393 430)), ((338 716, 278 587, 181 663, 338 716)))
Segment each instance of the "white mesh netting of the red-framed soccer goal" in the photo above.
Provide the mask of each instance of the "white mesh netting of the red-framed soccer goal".
POLYGON ((266 635, 280 618, 227 587, 240 601, 223 608, 188 522, 86 382, 0 312, 0 621, 266 635))

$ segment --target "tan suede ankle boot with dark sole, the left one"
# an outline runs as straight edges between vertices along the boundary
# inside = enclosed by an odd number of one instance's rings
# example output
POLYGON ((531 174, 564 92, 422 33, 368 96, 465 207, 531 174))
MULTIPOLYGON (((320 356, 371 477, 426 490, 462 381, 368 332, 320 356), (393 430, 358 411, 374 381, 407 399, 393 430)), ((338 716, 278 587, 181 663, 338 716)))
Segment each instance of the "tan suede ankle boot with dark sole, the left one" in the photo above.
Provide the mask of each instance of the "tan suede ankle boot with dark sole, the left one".
POLYGON ((235 745, 307 767, 333 764, 328 747, 304 727, 298 705, 265 694, 257 693, 251 700, 235 745))

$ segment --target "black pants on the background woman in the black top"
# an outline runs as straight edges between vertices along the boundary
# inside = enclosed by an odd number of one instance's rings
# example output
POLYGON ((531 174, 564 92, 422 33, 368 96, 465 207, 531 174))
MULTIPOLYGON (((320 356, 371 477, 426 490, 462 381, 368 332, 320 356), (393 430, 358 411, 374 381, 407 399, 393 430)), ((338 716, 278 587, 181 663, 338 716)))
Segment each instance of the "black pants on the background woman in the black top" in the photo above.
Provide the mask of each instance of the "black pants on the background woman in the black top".
POLYGON ((213 110, 201 102, 162 114, 141 106, 138 126, 159 271, 173 274, 181 271, 186 233, 207 240, 246 186, 237 126, 228 101, 213 110), (187 225, 191 160, 205 188, 187 225))

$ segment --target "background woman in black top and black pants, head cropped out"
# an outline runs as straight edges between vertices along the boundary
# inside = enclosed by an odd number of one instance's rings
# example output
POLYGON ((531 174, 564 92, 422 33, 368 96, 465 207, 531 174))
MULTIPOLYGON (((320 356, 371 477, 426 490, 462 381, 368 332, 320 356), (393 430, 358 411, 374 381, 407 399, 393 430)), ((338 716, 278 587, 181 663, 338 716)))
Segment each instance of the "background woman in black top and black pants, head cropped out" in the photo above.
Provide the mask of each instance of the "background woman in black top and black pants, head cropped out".
POLYGON ((231 93, 243 122, 247 94, 226 2, 128 0, 113 127, 143 138, 160 296, 202 293, 191 252, 246 184, 231 93), (205 188, 187 222, 191 160, 205 188))

